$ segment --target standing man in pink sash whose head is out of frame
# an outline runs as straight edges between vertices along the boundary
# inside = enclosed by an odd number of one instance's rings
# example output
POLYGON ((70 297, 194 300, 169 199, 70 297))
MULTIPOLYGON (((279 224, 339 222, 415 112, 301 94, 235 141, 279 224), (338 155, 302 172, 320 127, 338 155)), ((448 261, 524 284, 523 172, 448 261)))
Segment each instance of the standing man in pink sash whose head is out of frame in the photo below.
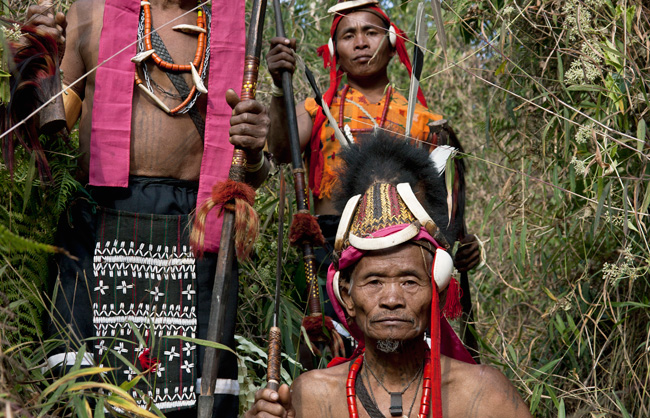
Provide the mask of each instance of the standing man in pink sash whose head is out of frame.
MULTIPOLYGON (((56 260, 58 271, 52 279, 60 290, 47 336, 59 337, 66 345, 48 353, 48 365, 57 370, 74 364, 79 347, 85 345, 84 351, 92 355, 84 356, 82 365, 110 363, 111 367, 124 369, 116 372, 117 384, 142 372, 148 381, 141 380, 138 389, 148 398, 141 404, 152 400, 167 417, 174 413, 184 418, 195 414, 196 391, 201 387, 203 347, 166 339, 168 335, 207 336, 220 235, 215 216, 206 226, 203 257, 194 257, 188 235, 192 230, 191 214, 197 202, 201 203, 199 184, 209 195, 215 183, 225 180, 232 160, 232 148, 226 142, 229 140, 246 154, 245 181, 258 187, 269 170, 262 151, 269 118, 261 103, 240 101, 232 90, 224 94, 227 88, 241 87, 242 79, 237 77, 240 73, 233 71, 232 65, 223 68, 228 64, 213 62, 210 74, 203 80, 210 91, 192 102, 181 97, 168 76, 180 75, 188 90, 196 86, 201 91, 199 76, 192 77, 189 71, 175 72, 169 68, 171 63, 162 65, 151 55, 135 65, 131 62, 133 55, 124 55, 131 52, 111 56, 104 48, 122 50, 133 45, 139 35, 137 19, 142 18, 151 19, 152 32, 157 31, 174 64, 187 66, 200 60, 199 65, 194 64, 200 72, 203 64, 208 65, 209 57, 243 63, 243 3, 220 0, 213 4, 215 16, 220 13, 219 27, 215 29, 219 33, 210 33, 210 6, 199 11, 196 0, 77 0, 67 16, 55 14, 46 5, 31 6, 28 11, 30 23, 57 38, 65 51, 60 68, 64 85, 71 86, 64 98, 68 129, 81 118, 79 178, 85 190, 79 191, 61 217, 56 238, 56 245, 66 248, 78 261, 66 257, 56 260), (224 12, 226 6, 232 7, 228 9, 231 13, 224 12), (112 23, 104 27, 105 22, 112 23), (186 25, 190 33, 172 29, 180 24, 186 25), (197 28, 208 31, 205 42, 197 28), (221 31, 231 36, 224 37, 221 31), (207 45, 208 37, 209 50, 202 46, 207 45), (232 49, 222 48, 224 42, 232 43, 232 49), (96 71, 104 55, 110 57, 107 61, 117 56, 120 59, 96 71), (148 91, 142 89, 146 87, 145 66, 151 79, 148 91), (136 76, 144 84, 137 85, 136 76), (168 113, 169 109, 183 106, 187 106, 188 113, 168 113), (113 118, 104 113, 106 109, 125 109, 130 114, 117 113, 123 117, 113 118), (214 113, 207 114, 206 109, 214 109, 214 113), (205 130, 197 122, 198 117, 205 122, 205 130), (222 118, 229 119, 230 126, 222 118), (204 132, 199 133, 199 129, 204 132), (128 167, 124 164, 127 160, 128 167), (119 272, 113 271, 116 264, 111 261, 112 255, 126 251, 128 262, 117 266, 119 272), (165 260, 164 271, 156 270, 160 259, 165 260), (107 299, 110 303, 106 303, 107 299), (147 347, 133 340, 131 321, 125 326, 121 319, 124 316, 134 318, 133 326, 140 327, 147 347), (151 331, 148 324, 153 323, 159 328, 151 331), (115 335, 131 338, 120 346, 120 355, 128 358, 132 366, 114 358, 115 350, 106 349, 115 344, 115 335)), ((153 46, 145 49, 151 54, 152 48, 164 56, 153 34, 151 38, 153 46)), ((182 85, 180 90, 184 90, 182 85)), ((235 284, 221 299, 226 304, 221 342, 233 346, 236 264, 231 274, 235 284)), ((237 363, 230 353, 222 355, 219 362, 214 416, 236 417, 237 363)))

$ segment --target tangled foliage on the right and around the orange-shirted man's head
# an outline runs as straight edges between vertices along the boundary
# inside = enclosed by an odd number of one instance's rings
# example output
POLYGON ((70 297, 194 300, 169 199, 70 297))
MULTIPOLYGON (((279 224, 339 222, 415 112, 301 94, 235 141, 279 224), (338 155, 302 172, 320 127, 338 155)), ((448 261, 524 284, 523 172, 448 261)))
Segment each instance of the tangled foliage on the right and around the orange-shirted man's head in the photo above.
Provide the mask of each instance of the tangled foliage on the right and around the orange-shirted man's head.
MULTIPOLYGON (((332 3, 294 1, 284 16, 321 90, 315 49, 332 3)), ((417 3, 382 5, 412 36, 417 3)), ((482 357, 536 416, 650 411, 649 12, 641 1, 444 2, 447 60, 429 18, 423 89, 463 143, 469 230, 486 241, 471 275, 482 357)), ((294 88, 310 95, 300 71, 294 88)))

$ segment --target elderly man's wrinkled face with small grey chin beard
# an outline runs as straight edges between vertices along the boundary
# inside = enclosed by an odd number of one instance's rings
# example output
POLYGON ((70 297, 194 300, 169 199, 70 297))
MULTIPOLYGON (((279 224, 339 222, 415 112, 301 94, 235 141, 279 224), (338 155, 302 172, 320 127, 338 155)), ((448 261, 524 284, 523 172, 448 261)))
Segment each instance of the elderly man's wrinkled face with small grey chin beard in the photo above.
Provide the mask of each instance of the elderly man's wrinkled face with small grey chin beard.
POLYGON ((367 343, 424 334, 432 296, 430 266, 431 255, 413 244, 370 252, 359 260, 351 274, 350 293, 341 294, 367 343))

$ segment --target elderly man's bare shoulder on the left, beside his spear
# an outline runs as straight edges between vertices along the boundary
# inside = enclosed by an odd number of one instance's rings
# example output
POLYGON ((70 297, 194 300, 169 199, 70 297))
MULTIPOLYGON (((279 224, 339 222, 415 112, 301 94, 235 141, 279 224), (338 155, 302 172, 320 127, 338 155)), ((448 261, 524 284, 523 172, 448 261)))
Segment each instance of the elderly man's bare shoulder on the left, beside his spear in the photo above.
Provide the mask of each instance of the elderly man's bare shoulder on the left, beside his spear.
POLYGON ((291 386, 296 417, 347 417, 345 380, 350 363, 301 374, 291 386))

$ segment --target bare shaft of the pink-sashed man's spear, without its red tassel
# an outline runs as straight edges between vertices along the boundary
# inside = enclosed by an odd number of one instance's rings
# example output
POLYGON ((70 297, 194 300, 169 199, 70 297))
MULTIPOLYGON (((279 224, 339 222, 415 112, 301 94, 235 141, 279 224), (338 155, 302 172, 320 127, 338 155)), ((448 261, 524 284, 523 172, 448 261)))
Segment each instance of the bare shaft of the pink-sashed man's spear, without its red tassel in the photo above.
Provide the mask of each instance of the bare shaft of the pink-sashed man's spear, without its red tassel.
MULTIPOLYGON (((266 13, 266 0, 254 0, 251 8, 251 20, 246 37, 246 55, 244 58, 244 78, 240 98, 244 100, 255 99, 257 90, 257 76, 262 52, 262 30, 264 28, 264 16, 266 13)), ((230 173, 228 178, 237 182, 243 182, 246 171, 246 154, 244 150, 235 147, 230 173)), ((232 265, 235 259, 235 244, 233 240, 235 229, 234 209, 224 208, 223 227, 219 255, 217 256, 217 268, 212 289, 212 302, 210 306, 210 318, 208 325, 207 340, 219 342, 223 339, 224 317, 226 310, 226 296, 232 280, 232 265)), ((213 347, 205 347, 203 360, 203 373, 201 376, 201 395, 199 396, 198 417, 210 418, 214 405, 214 385, 217 380, 218 360, 220 351, 213 347)))

